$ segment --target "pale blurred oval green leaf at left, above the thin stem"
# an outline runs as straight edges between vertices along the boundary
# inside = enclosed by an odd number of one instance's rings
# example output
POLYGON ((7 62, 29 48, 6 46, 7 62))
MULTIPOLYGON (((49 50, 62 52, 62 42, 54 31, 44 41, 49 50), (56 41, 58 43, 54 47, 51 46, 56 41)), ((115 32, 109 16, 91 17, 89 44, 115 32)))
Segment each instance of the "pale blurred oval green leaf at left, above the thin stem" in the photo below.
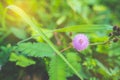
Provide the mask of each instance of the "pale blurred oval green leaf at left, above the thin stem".
POLYGON ((12 27, 11 31, 19 39, 26 38, 26 32, 23 29, 18 29, 18 28, 12 27))

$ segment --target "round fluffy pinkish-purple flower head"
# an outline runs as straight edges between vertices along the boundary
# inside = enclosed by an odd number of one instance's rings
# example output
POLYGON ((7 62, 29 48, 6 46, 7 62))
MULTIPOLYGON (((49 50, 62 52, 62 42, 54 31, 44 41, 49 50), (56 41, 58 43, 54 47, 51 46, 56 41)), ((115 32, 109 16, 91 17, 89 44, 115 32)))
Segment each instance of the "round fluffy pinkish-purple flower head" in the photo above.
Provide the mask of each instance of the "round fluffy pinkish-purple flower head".
POLYGON ((81 51, 87 48, 89 41, 86 35, 78 34, 74 37, 72 44, 77 51, 81 51))

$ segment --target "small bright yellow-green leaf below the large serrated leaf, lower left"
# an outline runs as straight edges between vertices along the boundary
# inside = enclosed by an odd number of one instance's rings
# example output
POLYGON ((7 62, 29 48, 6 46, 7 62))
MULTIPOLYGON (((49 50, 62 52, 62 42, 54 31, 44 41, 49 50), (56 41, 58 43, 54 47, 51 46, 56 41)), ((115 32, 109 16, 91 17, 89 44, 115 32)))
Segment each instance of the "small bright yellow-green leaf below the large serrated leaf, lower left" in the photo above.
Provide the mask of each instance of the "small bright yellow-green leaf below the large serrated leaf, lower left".
POLYGON ((35 64, 35 61, 32 59, 29 59, 23 55, 17 55, 16 53, 11 53, 9 60, 11 62, 16 62, 16 65, 19 65, 21 67, 27 67, 35 64))

